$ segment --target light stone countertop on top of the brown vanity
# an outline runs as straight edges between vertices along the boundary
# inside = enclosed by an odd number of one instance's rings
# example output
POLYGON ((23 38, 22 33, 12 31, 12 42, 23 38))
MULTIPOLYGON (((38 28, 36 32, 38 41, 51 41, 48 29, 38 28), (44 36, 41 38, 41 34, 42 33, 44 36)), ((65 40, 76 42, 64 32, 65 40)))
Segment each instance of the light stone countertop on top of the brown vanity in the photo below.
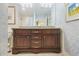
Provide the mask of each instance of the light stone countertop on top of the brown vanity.
POLYGON ((59 29, 54 26, 19 26, 13 29, 59 29))

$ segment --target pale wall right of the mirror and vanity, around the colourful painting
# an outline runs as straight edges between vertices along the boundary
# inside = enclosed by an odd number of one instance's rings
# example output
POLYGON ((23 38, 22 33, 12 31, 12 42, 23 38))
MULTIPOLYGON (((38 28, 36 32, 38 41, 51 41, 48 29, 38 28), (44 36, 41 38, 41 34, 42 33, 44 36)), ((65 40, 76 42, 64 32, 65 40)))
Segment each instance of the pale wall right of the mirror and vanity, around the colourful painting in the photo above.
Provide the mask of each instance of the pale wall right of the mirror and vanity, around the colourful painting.
POLYGON ((79 20, 67 23, 64 4, 56 4, 56 27, 64 33, 64 48, 70 55, 79 55, 79 20))

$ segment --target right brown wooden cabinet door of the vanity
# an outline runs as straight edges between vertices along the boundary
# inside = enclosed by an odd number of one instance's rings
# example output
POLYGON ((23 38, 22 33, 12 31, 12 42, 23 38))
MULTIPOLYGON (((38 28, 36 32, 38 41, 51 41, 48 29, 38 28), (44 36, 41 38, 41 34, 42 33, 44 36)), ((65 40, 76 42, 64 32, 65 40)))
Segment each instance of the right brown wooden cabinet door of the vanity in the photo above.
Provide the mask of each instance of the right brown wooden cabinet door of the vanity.
POLYGON ((57 35, 44 35, 44 48, 57 48, 57 35))

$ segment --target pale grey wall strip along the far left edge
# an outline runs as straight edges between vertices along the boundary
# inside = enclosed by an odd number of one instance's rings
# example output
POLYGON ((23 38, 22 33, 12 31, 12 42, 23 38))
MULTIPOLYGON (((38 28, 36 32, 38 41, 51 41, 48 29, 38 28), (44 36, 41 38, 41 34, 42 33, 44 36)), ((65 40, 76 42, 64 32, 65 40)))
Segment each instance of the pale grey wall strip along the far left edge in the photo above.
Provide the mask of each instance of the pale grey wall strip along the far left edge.
POLYGON ((0 55, 8 51, 8 12, 7 4, 0 3, 0 55))

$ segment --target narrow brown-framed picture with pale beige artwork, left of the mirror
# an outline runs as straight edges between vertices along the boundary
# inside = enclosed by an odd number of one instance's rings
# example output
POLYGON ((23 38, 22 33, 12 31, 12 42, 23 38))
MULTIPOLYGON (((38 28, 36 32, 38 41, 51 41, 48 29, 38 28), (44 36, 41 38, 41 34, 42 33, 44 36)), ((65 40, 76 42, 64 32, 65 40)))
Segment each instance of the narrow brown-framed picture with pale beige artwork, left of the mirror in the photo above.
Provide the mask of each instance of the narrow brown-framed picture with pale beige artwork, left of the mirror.
POLYGON ((8 25, 14 25, 15 24, 15 6, 8 6, 8 25))

